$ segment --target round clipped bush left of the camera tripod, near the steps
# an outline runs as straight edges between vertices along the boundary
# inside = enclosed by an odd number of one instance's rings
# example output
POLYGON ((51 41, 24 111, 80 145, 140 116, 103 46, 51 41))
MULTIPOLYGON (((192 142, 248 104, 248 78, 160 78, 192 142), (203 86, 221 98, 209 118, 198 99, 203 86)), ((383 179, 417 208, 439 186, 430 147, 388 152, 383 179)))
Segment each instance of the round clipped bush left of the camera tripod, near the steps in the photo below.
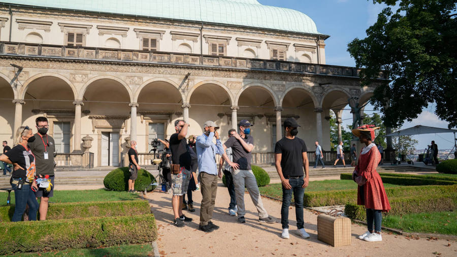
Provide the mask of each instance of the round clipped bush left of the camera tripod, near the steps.
MULTIPOLYGON (((105 176, 103 184, 110 190, 127 191, 129 177, 128 167, 117 168, 105 176)), ((138 171, 138 178, 135 180, 135 190, 144 191, 146 188, 147 191, 151 191, 155 188, 155 186, 150 185, 153 181, 155 182, 155 179, 152 174, 141 169, 138 171)))

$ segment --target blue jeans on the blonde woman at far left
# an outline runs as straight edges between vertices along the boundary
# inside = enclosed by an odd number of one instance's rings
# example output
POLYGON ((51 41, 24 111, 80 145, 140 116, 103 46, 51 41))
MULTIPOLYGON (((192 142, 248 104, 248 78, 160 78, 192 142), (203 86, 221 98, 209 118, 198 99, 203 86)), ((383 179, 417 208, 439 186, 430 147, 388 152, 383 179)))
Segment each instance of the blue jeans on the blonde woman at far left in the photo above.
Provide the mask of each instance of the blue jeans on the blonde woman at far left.
POLYGON ((16 206, 14 208, 13 219, 11 221, 21 221, 22 215, 25 212, 25 206, 28 204, 28 220, 37 220, 38 202, 35 198, 34 191, 31 190, 31 185, 24 183, 22 189, 17 189, 17 181, 13 180, 11 186, 14 190, 14 199, 16 206))

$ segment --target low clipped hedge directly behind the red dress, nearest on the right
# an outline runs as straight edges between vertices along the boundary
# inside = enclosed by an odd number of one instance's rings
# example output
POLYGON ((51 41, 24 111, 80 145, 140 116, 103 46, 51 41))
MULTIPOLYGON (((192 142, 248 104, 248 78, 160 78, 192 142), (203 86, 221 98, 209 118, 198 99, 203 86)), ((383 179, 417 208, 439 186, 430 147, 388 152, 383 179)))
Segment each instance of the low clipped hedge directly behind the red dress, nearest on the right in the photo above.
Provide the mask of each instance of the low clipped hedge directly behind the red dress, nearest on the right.
MULTIPOLYGON (((410 213, 453 211, 457 209, 457 195, 455 193, 397 197, 389 199, 391 210, 388 215, 404 215, 410 213)), ((351 219, 366 220, 366 209, 363 205, 347 203, 344 213, 351 219)))

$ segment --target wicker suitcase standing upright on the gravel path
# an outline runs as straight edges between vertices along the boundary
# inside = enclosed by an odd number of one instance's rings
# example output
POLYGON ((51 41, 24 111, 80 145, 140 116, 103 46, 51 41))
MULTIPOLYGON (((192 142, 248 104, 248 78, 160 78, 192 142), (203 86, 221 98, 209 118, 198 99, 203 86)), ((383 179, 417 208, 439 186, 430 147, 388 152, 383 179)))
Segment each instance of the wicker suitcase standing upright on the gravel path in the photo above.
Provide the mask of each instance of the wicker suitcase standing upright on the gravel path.
POLYGON ((317 239, 332 246, 351 244, 351 220, 342 216, 319 214, 317 216, 317 239))

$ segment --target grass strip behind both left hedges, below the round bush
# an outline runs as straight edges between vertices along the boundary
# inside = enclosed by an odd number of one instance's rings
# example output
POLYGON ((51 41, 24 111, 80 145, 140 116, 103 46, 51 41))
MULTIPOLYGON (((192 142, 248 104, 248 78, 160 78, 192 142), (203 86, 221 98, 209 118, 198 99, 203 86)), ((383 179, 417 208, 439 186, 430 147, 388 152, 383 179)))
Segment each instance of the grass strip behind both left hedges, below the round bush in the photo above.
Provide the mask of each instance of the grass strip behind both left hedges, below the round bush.
MULTIPOLYGON (((0 206, 6 205, 8 192, 0 192, 0 206)), ((50 199, 53 203, 73 202, 100 202, 100 201, 128 201, 139 199, 138 194, 127 191, 109 191, 106 189, 96 190, 56 190, 50 199)), ((11 192, 11 203, 14 204, 14 191, 11 192)))

